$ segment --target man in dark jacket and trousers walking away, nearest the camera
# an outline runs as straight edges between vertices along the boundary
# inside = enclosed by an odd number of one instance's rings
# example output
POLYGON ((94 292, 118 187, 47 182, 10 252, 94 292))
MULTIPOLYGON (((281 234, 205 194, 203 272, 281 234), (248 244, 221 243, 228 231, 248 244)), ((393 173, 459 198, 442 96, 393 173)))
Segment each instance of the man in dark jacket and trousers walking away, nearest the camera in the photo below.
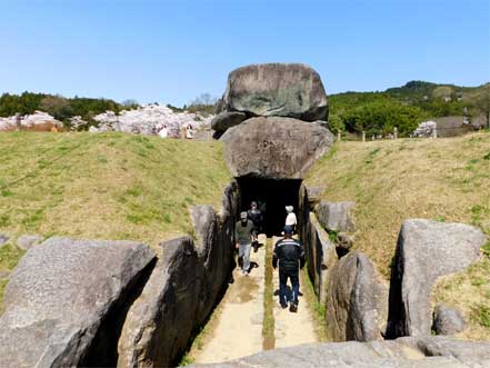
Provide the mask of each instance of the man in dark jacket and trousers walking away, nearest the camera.
POLYGON ((299 269, 304 267, 304 249, 301 243, 292 238, 292 227, 284 227, 284 238, 274 247, 272 267, 276 269, 279 262, 279 302, 282 308, 288 308, 287 282, 288 278, 292 286, 292 300, 289 310, 298 311, 299 295, 299 269))

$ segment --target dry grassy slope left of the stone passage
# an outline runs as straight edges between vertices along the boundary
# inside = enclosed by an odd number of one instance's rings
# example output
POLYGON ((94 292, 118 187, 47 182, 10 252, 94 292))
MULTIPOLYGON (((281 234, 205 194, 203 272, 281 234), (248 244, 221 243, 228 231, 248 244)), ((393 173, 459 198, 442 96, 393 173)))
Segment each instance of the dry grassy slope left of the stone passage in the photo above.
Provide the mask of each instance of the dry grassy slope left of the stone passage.
MULTIPOLYGON (((192 233, 189 207, 221 203, 219 142, 121 133, 1 133, 0 233, 133 239, 192 233)), ((0 249, 0 271, 22 252, 0 249)), ((0 300, 4 281, 0 280, 0 300)))

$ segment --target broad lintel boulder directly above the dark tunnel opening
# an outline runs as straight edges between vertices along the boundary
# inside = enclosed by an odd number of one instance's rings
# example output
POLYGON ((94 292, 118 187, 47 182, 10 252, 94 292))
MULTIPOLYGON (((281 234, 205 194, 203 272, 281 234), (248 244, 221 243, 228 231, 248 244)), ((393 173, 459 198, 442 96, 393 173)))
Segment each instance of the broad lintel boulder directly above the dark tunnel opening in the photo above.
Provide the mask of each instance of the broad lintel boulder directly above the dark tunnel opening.
POLYGON ((333 143, 324 127, 291 118, 252 118, 221 137, 234 177, 302 179, 333 143))

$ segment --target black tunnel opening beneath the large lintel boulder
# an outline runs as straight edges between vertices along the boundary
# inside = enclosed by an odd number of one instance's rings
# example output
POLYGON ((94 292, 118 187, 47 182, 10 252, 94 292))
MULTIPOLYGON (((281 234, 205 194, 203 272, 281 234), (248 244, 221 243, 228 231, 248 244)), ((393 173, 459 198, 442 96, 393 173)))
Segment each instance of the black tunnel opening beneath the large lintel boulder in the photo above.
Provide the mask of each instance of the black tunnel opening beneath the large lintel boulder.
POLYGON ((280 236, 284 228, 286 206, 293 206, 299 218, 299 179, 261 179, 241 177, 237 179, 241 193, 241 211, 250 209, 250 203, 257 201, 263 212, 263 232, 268 237, 280 236))

